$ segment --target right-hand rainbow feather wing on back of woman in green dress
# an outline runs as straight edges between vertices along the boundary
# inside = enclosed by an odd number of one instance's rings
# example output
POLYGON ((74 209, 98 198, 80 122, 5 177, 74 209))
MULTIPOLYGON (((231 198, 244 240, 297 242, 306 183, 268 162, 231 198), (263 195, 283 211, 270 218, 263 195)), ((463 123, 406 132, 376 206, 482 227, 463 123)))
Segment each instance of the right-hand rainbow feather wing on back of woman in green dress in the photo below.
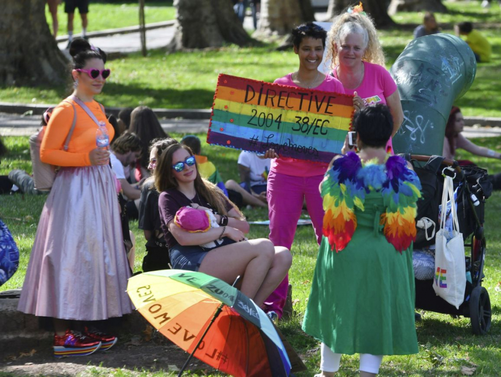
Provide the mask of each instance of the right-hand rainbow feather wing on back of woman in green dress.
POLYGON ((388 242, 402 252, 416 239, 416 202, 421 197, 421 183, 398 156, 388 158, 386 171, 388 181, 382 188, 386 213, 381 215, 380 223, 388 242))

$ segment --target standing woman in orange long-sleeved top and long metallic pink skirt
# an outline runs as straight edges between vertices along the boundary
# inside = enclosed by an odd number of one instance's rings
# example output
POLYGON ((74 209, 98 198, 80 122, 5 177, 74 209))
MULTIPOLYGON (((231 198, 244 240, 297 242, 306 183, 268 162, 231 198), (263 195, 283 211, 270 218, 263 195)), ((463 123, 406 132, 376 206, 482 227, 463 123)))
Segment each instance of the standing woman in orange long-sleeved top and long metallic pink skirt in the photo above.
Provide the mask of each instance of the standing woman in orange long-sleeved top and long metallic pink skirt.
MULTIPOLYGON (((106 54, 77 39, 73 57, 73 96, 108 123, 94 96, 110 71, 106 54)), ((72 97, 73 97, 72 96, 72 97)), ((98 125, 72 97, 52 112, 40 149, 42 162, 60 166, 40 216, 19 310, 54 318, 54 354, 86 355, 117 338, 91 327, 75 331, 72 320, 95 321, 132 311, 126 293, 130 276, 107 147, 96 147, 98 125), (65 139, 76 117, 68 150, 65 139)), ((73 97, 74 98, 74 97, 73 97)))

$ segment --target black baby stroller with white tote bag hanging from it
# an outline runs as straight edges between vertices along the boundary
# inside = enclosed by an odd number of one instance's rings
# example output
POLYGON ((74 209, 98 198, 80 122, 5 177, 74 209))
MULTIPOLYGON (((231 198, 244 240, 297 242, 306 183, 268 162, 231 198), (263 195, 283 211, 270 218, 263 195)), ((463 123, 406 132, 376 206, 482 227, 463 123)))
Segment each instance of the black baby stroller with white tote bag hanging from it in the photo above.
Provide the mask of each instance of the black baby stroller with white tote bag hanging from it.
MULTIPOLYGON (((476 166, 459 167, 454 160, 441 156, 402 155, 414 166, 422 185, 423 199, 418 201, 416 221, 425 217, 433 219, 438 229, 438 205, 442 196, 442 174, 451 176, 457 188, 456 204, 459 231, 464 239, 467 279, 464 300, 456 309, 433 290, 433 278, 415 279, 416 308, 452 316, 469 317, 474 334, 485 334, 491 323, 491 306, 487 290, 482 287, 485 261, 485 236, 483 232, 485 200, 492 192, 492 184, 487 179, 487 171, 476 166), (451 169, 446 169, 450 167, 451 169)), ((426 226, 425 226, 426 228, 426 226)), ((430 230, 419 229, 414 250, 434 245, 430 230), (424 236, 423 236, 424 234, 424 236)), ((434 234, 434 232, 433 232, 434 234)))

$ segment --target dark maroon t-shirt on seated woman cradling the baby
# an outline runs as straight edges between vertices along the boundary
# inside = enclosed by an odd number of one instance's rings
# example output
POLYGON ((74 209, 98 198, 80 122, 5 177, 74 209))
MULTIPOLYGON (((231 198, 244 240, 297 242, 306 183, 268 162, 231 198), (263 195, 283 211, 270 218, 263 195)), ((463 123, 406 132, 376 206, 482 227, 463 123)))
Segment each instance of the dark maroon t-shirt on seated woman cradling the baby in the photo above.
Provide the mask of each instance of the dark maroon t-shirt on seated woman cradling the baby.
MULTIPOLYGON (((223 200, 225 202, 225 209, 229 211, 233 208, 229 200, 223 196, 223 200)), ((199 204, 203 207, 210 208, 215 210, 203 196, 196 194, 194 198, 188 199, 186 195, 177 189, 168 189, 160 194, 158 198, 158 210, 160 213, 160 223, 161 228, 164 234, 165 241, 167 242, 168 247, 172 247, 176 245, 178 242, 174 238, 174 236, 170 233, 167 228, 167 224, 174 220, 176 216, 176 212, 181 207, 186 207, 191 205, 191 203, 199 204)))

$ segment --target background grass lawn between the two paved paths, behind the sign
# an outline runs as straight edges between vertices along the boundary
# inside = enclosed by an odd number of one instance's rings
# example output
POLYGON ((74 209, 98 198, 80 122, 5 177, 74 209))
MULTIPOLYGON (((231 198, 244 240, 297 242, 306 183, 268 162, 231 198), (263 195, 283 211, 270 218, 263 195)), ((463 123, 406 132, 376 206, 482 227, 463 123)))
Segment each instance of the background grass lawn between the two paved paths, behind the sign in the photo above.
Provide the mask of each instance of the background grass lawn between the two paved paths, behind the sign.
MULTIPOLYGON (((164 3, 147 1, 146 4, 164 3)), ((485 10, 477 1, 444 4, 448 7, 449 14, 437 15, 437 20, 445 23, 444 33, 452 34, 451 23, 455 21, 471 20, 485 23, 482 27, 491 27, 482 33, 492 44, 492 62, 478 65, 473 85, 456 101, 456 105, 461 107, 465 116, 501 117, 501 99, 498 95, 501 82, 492 80, 493 77, 501 75, 501 30, 495 27, 498 26, 499 7, 492 6, 485 10)), ((121 7, 136 7, 132 1, 120 7, 115 3, 92 3, 91 7, 94 6, 109 7, 113 12, 121 7)), ((164 8, 169 7, 159 7, 158 13, 166 12, 164 8)), ((124 17, 120 13, 120 17, 110 17, 109 22, 121 22, 126 18, 126 12, 123 12, 124 17)), ((131 12, 133 14, 135 11, 131 12)), ((156 11, 153 13, 157 14, 156 11)), ((131 20, 135 20, 134 17, 131 20)), ((400 23, 418 24, 422 20, 422 13, 399 13, 394 19, 400 23)), ((107 23, 108 18, 105 20, 107 23)), ((397 27, 380 31, 379 34, 387 55, 387 68, 390 68, 412 40, 412 28, 397 27)), ((265 45, 239 49, 227 46, 219 50, 170 55, 157 50, 150 51, 146 58, 140 54, 131 54, 125 58, 111 60, 107 66, 111 68, 112 75, 98 100, 105 106, 147 105, 152 108, 208 109, 212 106, 219 73, 273 81, 295 71, 298 65, 296 55, 292 51, 275 51, 274 47, 265 45)), ((70 88, 67 87, 0 87, 0 101, 56 104, 69 93, 70 88)))

